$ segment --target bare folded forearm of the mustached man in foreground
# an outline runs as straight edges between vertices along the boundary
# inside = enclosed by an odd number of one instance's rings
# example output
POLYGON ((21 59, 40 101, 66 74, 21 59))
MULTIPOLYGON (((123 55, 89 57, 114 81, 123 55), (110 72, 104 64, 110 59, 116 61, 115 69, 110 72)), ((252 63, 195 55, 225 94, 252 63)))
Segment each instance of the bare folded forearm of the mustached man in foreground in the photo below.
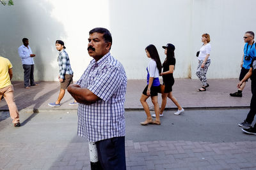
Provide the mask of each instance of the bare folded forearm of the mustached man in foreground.
POLYGON ((92 104, 100 99, 90 90, 76 84, 69 85, 67 90, 78 103, 92 104))

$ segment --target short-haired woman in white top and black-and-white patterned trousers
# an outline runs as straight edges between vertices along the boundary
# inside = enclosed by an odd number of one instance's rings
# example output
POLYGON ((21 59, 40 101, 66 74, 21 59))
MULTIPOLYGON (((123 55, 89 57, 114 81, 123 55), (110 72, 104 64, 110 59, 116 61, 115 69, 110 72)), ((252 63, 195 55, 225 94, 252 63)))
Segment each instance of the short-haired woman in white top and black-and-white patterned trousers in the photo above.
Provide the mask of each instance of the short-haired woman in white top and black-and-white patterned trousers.
POLYGON ((210 52, 211 45, 209 42, 211 41, 209 34, 202 34, 202 42, 204 45, 200 48, 200 53, 198 55, 198 67, 196 69, 196 76, 198 76, 199 80, 202 82, 202 87, 198 89, 198 92, 204 92, 206 87, 209 87, 207 83, 206 73, 208 67, 211 64, 210 52))

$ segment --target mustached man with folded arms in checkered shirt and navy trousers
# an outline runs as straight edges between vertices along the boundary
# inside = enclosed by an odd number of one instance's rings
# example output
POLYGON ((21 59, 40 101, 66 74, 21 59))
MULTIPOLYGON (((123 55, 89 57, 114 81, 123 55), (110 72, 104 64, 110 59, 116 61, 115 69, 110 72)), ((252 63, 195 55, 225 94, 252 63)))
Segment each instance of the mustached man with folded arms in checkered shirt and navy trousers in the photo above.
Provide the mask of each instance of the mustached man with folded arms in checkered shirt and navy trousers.
POLYGON ((102 169, 126 169, 125 70, 110 54, 112 37, 108 29, 92 29, 88 41, 93 60, 77 84, 68 87, 79 103, 77 134, 96 142, 102 169))

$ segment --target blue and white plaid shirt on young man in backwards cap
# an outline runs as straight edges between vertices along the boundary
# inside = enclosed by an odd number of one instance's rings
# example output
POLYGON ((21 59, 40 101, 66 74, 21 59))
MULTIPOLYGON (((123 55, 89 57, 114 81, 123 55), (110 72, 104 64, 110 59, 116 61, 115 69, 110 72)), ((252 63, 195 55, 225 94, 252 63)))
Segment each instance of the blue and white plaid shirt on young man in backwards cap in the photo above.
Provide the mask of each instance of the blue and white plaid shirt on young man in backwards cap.
POLYGON ((73 74, 68 58, 68 53, 64 49, 59 52, 57 61, 60 67, 60 78, 65 79, 65 74, 73 74))

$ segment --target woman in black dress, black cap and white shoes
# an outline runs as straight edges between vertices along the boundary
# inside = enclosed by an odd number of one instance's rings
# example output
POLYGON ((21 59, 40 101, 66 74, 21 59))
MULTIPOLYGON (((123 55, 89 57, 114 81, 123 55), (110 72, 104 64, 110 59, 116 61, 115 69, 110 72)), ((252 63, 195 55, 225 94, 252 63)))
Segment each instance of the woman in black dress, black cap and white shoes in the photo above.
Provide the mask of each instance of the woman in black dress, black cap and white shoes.
MULTIPOLYGON (((163 101, 161 104, 160 117, 163 117, 163 111, 166 106, 167 97, 169 97, 178 108, 178 111, 174 114, 180 115, 180 113, 184 112, 184 109, 180 106, 177 99, 172 95, 172 86, 174 84, 173 71, 176 62, 174 57, 175 46, 168 43, 166 46, 163 46, 163 48, 166 59, 163 62, 163 73, 160 75, 163 76, 163 84, 165 85, 165 88, 164 94, 162 94, 163 101)), ((154 116, 155 115, 152 115, 152 117, 154 116)))

